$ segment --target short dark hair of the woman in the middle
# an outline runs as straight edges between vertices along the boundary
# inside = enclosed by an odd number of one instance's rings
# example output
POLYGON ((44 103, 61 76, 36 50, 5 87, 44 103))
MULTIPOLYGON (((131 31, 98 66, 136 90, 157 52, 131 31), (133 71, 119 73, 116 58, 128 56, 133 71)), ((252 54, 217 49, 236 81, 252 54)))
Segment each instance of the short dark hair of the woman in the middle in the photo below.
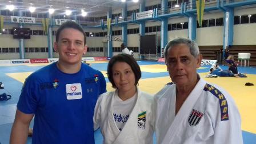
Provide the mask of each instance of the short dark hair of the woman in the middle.
POLYGON ((112 87, 117 88, 117 86, 115 86, 115 82, 113 79, 113 70, 112 70, 113 66, 117 62, 125 62, 131 67, 131 70, 133 70, 133 73, 135 75, 134 85, 135 86, 139 85, 138 82, 139 82, 139 79, 141 78, 141 69, 139 68, 138 63, 135 61, 133 56, 129 54, 118 54, 112 57, 109 61, 109 65, 107 65, 107 77, 109 78, 109 81, 111 82, 112 87))

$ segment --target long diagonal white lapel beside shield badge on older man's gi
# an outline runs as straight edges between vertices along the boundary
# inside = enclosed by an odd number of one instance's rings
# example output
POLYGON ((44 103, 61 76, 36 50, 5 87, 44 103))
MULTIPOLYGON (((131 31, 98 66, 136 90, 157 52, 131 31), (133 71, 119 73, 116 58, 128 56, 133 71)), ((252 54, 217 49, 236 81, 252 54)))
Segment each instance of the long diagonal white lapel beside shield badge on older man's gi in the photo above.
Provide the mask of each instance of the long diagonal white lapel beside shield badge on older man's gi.
POLYGON ((175 139, 177 131, 179 131, 179 129, 182 129, 184 121, 187 122, 188 115, 190 115, 191 109, 193 108, 195 102, 197 102, 197 99, 201 95, 205 83, 206 82, 203 81, 202 78, 200 78, 197 85, 194 87, 193 91, 191 91, 191 93, 189 94, 189 97, 187 97, 186 101, 181 106, 181 109, 179 109, 173 123, 171 123, 171 126, 167 130, 167 133, 163 138, 162 143, 171 143, 173 139, 175 139))

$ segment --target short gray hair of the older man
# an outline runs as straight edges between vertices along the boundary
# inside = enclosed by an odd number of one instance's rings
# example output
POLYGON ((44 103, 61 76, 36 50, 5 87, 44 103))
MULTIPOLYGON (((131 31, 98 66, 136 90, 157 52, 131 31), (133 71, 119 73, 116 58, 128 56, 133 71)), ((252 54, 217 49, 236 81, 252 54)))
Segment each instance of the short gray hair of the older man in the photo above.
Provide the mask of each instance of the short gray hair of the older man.
POLYGON ((165 50, 163 50, 163 55, 165 58, 167 58, 167 51, 171 48, 173 48, 173 46, 179 45, 179 44, 185 44, 189 47, 190 53, 191 55, 193 55, 195 58, 198 57, 199 55, 199 48, 197 43, 195 43, 195 41, 188 39, 188 38, 174 38, 173 40, 171 40, 169 43, 167 43, 167 45, 165 46, 165 50))

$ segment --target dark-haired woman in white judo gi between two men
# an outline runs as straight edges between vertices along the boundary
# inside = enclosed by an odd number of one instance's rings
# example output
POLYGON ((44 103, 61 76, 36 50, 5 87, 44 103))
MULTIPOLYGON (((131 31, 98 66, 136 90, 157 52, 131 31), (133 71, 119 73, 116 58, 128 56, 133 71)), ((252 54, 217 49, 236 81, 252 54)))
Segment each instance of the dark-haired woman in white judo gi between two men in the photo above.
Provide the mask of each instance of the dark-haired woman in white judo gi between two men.
POLYGON ((141 69, 133 56, 118 54, 107 66, 107 76, 116 89, 101 94, 94 110, 94 130, 99 127, 103 143, 153 143, 153 95, 137 87, 141 69))

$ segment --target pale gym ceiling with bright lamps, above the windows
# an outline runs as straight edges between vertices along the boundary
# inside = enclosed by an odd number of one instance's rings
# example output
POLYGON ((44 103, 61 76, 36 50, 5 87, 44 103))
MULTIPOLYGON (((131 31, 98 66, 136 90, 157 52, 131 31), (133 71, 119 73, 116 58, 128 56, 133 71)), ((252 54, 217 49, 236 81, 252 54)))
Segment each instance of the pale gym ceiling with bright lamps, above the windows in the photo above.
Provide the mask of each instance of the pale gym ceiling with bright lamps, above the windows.
MULTIPOLYGON (((146 2, 149 1, 154 0, 146 2)), ((127 7, 139 5, 139 2, 134 3, 132 0, 126 0, 126 3, 127 7)), ((57 11, 66 9, 81 11, 84 9, 92 15, 101 15, 106 14, 110 7, 112 10, 122 9, 124 3, 121 0, 0 0, 0 9, 5 9, 6 5, 14 5, 19 10, 27 10, 29 6, 34 6, 37 7, 37 11, 43 11, 50 7, 57 11)))

